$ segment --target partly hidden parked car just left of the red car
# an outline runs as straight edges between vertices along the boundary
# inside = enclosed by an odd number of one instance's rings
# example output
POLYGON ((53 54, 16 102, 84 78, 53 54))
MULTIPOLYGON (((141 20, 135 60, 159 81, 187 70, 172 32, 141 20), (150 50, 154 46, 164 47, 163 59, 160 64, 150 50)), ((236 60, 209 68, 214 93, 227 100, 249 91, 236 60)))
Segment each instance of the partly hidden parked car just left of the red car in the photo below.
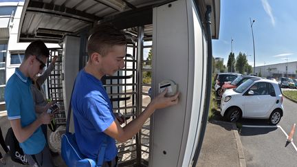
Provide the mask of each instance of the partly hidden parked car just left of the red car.
POLYGON ((214 90, 217 93, 217 96, 221 95, 221 87, 226 83, 226 82, 232 82, 235 80, 238 76, 241 76, 241 74, 235 74, 235 73, 218 73, 215 77, 215 84, 214 84, 214 90))

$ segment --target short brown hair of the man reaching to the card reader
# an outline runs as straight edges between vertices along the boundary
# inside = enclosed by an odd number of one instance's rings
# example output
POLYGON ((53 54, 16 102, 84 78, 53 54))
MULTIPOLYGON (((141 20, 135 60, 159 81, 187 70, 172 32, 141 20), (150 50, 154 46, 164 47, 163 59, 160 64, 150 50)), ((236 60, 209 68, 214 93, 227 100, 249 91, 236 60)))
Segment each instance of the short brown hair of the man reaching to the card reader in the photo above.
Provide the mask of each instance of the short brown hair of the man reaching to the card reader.
POLYGON ((89 36, 87 52, 89 56, 94 52, 105 56, 114 45, 126 45, 124 32, 110 24, 97 25, 89 36))

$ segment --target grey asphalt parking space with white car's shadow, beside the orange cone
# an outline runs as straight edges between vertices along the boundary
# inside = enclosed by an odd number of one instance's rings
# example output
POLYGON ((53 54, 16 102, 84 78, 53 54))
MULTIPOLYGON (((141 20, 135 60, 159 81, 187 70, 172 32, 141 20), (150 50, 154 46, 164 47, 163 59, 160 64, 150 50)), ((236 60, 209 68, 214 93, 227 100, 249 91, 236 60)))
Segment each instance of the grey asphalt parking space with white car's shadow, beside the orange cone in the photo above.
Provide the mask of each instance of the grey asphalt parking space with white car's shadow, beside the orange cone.
MULTIPOLYGON (((289 133, 289 132, 287 132, 289 133)), ((296 166, 297 149, 287 142, 281 126, 248 126, 241 129, 247 166, 296 166)))

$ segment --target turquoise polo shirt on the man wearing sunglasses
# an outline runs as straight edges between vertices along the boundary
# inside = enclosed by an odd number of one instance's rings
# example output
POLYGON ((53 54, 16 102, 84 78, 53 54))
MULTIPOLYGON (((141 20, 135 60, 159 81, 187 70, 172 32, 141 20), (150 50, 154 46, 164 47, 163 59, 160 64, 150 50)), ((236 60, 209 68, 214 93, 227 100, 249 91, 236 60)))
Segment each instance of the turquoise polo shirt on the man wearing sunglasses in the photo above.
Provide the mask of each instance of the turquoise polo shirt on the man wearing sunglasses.
MULTIPOLYGON (((34 100, 31 93, 32 80, 25 77, 19 68, 8 80, 5 87, 5 103, 8 111, 8 120, 21 119, 21 126, 25 127, 36 120, 34 100)), ((43 151, 45 147, 45 136, 41 127, 25 142, 20 143, 25 154, 34 155, 43 151)))

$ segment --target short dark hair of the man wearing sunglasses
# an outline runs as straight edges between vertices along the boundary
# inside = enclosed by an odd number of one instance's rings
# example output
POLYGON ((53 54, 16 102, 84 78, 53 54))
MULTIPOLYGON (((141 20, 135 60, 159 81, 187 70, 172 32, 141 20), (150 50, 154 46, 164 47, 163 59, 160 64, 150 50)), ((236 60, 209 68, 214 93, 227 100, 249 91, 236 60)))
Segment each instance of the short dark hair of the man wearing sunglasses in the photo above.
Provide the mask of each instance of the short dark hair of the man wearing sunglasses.
POLYGON ((27 49, 25 49, 24 59, 26 60, 29 56, 33 56, 33 55, 39 58, 41 56, 45 56, 48 58, 50 56, 50 50, 46 47, 43 41, 41 40, 33 41, 32 43, 30 43, 27 49))

